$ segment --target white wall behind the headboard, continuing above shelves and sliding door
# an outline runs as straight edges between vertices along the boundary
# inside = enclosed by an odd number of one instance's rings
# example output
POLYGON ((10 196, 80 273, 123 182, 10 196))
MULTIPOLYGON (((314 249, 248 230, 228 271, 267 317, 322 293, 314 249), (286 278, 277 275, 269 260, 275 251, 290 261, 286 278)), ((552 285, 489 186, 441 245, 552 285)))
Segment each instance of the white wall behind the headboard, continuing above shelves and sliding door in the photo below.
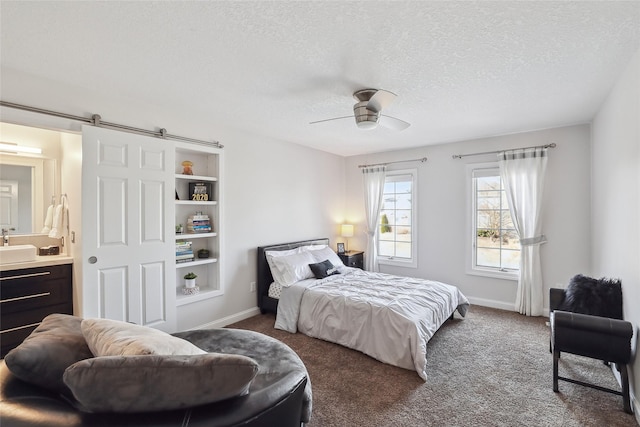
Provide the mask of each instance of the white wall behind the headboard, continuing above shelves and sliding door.
MULTIPOLYGON (((344 216, 343 157, 226 128, 215 117, 194 116, 185 106, 146 104, 126 94, 64 86, 7 68, 2 74, 4 101, 83 117, 97 113, 104 121, 143 129, 164 127, 170 134, 225 145, 225 294, 179 307, 178 329, 222 325, 257 313, 257 295, 249 292, 249 283, 256 280, 257 246, 319 237, 335 240, 344 216)), ((81 126, 10 108, 1 113, 10 123, 76 132, 81 126)), ((66 160, 78 161, 71 154, 66 160)), ((67 178, 72 180, 73 173, 67 178)), ((73 206, 79 205, 79 200, 73 201, 73 206)), ((71 227, 79 242, 77 225, 71 227)))

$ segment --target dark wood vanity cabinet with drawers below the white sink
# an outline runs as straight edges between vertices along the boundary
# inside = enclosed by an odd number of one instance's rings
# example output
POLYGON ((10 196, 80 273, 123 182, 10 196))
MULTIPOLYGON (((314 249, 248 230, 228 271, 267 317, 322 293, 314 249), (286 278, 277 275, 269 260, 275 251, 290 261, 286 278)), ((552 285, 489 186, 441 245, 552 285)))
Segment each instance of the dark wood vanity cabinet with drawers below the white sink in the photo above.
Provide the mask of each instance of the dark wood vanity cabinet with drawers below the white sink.
POLYGON ((0 272, 2 357, 20 344, 43 318, 73 314, 72 264, 0 272))

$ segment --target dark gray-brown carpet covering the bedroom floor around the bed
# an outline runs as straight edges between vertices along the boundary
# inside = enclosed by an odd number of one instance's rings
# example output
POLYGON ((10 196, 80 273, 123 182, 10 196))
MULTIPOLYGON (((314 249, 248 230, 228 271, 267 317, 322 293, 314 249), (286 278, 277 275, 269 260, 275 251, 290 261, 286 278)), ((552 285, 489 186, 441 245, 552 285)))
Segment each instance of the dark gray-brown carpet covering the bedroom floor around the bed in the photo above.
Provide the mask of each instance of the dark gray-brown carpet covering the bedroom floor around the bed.
MULTIPOLYGON (((637 426, 622 398, 560 382, 552 390, 546 318, 472 306, 431 339, 427 382, 358 351, 273 328, 273 315, 229 325, 275 337, 304 361, 313 385, 309 427, 637 426)), ((610 368, 563 354, 560 375, 619 390, 610 368)))

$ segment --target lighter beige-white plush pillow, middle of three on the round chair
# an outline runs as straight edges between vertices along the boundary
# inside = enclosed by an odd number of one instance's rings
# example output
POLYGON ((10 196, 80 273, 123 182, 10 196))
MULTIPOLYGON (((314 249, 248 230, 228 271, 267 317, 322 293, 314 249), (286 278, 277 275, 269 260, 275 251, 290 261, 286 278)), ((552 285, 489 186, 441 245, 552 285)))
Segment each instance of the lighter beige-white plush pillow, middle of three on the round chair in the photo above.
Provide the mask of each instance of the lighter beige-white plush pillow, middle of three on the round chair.
POLYGON ((82 333, 95 356, 205 354, 187 340, 158 329, 111 319, 84 319, 82 333))

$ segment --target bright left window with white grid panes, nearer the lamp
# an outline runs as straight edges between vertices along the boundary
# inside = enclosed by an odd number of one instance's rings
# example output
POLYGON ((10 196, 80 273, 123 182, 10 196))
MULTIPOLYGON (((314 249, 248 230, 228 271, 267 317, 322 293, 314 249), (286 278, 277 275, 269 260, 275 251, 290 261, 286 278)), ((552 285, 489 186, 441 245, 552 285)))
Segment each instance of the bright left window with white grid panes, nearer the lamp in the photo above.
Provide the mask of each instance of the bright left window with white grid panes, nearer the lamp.
POLYGON ((416 267, 416 170, 387 171, 378 227, 378 261, 416 267))

